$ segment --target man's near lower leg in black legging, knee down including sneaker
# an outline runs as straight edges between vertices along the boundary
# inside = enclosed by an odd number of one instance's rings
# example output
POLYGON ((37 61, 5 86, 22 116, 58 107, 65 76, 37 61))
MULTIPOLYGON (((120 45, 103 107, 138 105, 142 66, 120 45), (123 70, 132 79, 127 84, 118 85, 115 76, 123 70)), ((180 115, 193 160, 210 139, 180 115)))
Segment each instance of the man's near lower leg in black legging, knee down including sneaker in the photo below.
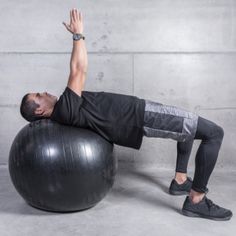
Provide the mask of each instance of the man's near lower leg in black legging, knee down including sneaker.
POLYGON ((186 197, 182 212, 190 217, 229 220, 232 212, 213 203, 205 196, 207 183, 214 169, 223 140, 223 129, 206 119, 199 119, 196 133, 202 139, 195 159, 195 174, 190 195, 186 197))

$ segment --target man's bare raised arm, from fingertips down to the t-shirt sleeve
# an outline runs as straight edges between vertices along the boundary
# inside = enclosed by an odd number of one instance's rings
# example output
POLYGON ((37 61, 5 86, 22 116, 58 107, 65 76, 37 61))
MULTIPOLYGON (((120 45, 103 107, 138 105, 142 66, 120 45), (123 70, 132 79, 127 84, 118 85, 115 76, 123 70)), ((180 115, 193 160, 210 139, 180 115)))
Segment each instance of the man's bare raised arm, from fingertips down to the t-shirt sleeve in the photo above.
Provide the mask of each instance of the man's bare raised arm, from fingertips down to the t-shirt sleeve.
MULTIPOLYGON (((63 22, 66 29, 74 36, 83 34, 83 18, 81 12, 77 9, 70 11, 70 24, 63 22), (77 35, 75 35, 77 34, 77 35)), ((73 49, 70 59, 70 76, 67 86, 75 93, 81 96, 87 75, 88 57, 85 47, 85 41, 81 38, 73 40, 73 49)))

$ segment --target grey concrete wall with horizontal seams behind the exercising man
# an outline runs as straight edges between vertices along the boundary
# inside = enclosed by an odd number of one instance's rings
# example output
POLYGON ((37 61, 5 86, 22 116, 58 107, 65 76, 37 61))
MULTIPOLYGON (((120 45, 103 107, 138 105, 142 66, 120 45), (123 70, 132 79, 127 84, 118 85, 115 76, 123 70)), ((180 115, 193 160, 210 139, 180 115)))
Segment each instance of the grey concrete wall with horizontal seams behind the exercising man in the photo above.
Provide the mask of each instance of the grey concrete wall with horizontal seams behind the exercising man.
MULTIPOLYGON (((89 53, 85 90, 136 95, 176 105, 225 130, 216 168, 236 160, 236 2, 233 0, 82 0, 0 2, 0 163, 26 124, 28 91, 60 95, 69 74, 69 10, 84 16, 89 53)), ((191 155, 199 141, 196 140, 191 155)), ((144 137, 139 151, 115 146, 120 163, 174 168, 176 142, 144 137)))

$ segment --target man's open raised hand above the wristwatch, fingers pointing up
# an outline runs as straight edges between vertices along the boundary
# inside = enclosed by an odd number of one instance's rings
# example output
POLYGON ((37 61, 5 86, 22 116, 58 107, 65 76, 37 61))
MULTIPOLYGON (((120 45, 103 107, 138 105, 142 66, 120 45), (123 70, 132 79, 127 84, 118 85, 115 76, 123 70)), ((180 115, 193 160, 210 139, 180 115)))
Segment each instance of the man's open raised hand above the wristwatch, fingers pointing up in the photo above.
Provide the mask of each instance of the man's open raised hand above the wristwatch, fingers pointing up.
POLYGON ((84 26, 82 13, 76 8, 72 9, 70 11, 70 24, 63 22, 63 25, 65 25, 66 29, 72 34, 83 34, 84 26))

